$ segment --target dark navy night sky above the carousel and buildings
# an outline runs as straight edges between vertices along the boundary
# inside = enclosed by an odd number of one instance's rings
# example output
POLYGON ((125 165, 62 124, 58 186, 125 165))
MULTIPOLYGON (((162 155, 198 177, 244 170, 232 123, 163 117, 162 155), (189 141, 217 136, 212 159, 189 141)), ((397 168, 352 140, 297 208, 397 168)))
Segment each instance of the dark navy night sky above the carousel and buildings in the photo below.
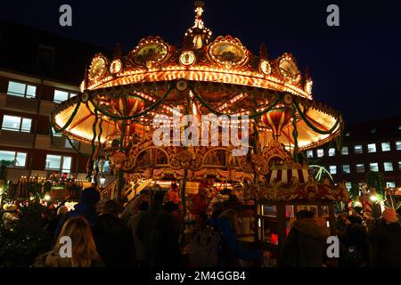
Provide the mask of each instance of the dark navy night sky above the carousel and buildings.
MULTIPOLYGON (((401 115, 401 1, 206 0, 203 19, 213 36, 239 37, 269 58, 284 52, 307 66, 314 98, 340 110, 346 122, 401 115), (340 6, 340 27, 328 27, 326 8, 340 6)), ((2 1, 0 18, 127 53, 139 40, 160 36, 170 44, 193 24, 192 0, 2 1), (73 27, 61 28, 59 7, 70 4, 73 27)))

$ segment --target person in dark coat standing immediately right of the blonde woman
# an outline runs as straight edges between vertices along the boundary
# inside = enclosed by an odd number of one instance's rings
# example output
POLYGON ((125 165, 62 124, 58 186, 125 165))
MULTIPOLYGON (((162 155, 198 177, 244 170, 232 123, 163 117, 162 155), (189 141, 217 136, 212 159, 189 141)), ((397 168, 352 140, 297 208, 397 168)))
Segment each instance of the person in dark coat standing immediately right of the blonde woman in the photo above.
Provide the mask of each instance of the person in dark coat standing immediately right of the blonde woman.
POLYGON ((135 244, 127 224, 119 218, 124 207, 118 200, 106 201, 94 226, 94 242, 106 267, 136 266, 135 244))

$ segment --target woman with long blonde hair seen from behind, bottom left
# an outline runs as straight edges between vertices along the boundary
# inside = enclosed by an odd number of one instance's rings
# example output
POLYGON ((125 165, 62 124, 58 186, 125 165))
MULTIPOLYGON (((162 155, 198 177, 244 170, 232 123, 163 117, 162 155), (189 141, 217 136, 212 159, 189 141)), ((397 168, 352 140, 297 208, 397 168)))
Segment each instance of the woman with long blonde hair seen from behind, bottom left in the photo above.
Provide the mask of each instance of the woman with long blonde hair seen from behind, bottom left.
POLYGON ((103 267, 97 253, 90 225, 82 216, 67 220, 61 229, 53 250, 38 256, 35 267, 103 267), (71 256, 62 257, 67 243, 62 237, 71 239, 71 256))

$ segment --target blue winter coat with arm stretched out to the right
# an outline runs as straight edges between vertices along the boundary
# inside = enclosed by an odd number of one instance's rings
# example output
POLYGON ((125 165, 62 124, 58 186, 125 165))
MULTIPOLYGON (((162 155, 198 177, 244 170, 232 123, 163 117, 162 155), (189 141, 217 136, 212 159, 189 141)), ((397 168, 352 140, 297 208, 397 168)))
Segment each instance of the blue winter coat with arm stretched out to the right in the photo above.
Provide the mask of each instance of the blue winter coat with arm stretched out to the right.
POLYGON ((209 224, 219 232, 221 238, 222 244, 218 266, 238 266, 238 258, 242 260, 258 260, 262 257, 261 250, 247 250, 242 248, 241 242, 237 239, 233 227, 226 217, 219 216, 217 218, 210 218, 209 224))

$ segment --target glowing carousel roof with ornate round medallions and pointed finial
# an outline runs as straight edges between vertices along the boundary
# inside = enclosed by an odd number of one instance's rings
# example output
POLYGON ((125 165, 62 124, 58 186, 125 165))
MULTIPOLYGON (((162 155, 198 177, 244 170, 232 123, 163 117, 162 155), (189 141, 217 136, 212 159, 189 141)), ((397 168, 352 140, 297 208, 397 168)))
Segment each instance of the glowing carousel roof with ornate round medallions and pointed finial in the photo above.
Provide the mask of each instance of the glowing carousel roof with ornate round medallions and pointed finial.
POLYGON ((294 146, 297 133, 299 149, 306 150, 340 134, 340 112, 313 100, 312 79, 307 71, 301 73, 291 53, 271 59, 266 45, 257 55, 238 38, 213 39, 202 20, 203 8, 202 1, 195 2, 194 25, 181 45, 147 37, 125 56, 119 45, 112 59, 96 54, 81 85, 83 94, 58 106, 53 127, 78 140, 94 142, 96 134, 106 142, 120 133, 125 119, 130 132, 144 134, 156 114, 184 110, 179 84, 185 82, 198 114, 248 115, 262 141, 275 137, 294 146), (129 114, 119 112, 121 104, 127 109, 122 98, 133 99, 129 114))

